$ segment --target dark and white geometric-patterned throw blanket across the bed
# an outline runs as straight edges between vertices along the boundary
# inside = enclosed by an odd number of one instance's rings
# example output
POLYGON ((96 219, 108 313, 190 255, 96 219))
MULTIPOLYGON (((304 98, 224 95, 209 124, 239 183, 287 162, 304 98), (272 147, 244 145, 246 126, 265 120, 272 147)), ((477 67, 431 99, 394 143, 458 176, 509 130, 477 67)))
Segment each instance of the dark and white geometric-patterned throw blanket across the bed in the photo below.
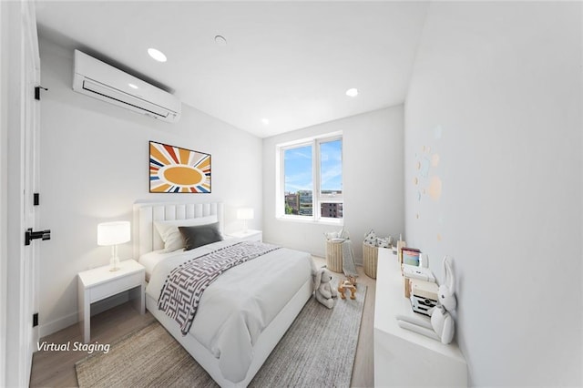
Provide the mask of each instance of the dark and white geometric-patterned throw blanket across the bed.
POLYGON ((202 293, 221 273, 280 247, 242 241, 188 260, 172 270, 160 291, 158 309, 178 322, 182 335, 190 330, 202 293))

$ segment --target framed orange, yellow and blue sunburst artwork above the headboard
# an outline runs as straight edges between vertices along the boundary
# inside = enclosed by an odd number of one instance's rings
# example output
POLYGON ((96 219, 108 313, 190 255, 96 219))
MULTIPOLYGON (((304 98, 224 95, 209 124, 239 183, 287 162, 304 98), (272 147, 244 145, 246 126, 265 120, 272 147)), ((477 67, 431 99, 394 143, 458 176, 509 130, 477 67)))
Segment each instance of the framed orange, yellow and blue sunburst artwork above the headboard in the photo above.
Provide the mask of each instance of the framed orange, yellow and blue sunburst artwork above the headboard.
POLYGON ((149 192, 210 193, 210 154, 150 141, 149 192))

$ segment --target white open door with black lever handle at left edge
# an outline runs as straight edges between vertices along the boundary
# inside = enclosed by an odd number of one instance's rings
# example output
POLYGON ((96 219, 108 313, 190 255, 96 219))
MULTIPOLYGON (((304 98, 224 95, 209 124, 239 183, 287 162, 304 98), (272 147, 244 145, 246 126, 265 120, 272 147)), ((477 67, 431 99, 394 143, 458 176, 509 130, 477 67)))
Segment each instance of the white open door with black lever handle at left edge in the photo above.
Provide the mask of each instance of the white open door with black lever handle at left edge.
POLYGON ((33 313, 37 311, 39 243, 26 245, 25 232, 36 231, 33 204, 37 189, 37 131, 39 102, 35 87, 39 85, 40 58, 36 36, 34 3, 26 0, 2 4, 2 56, 5 73, 2 87, 7 87, 2 101, 7 134, 6 168, 6 295, 5 298, 5 383, 26 386, 29 383, 32 354, 36 350, 37 328, 33 313))

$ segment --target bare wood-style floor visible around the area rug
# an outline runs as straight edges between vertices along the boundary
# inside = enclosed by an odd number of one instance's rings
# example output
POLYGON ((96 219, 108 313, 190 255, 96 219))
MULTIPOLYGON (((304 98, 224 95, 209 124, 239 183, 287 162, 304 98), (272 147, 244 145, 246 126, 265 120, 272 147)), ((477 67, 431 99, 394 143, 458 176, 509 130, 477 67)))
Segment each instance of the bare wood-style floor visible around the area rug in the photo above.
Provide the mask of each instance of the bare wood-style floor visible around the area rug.
MULTIPOLYGON (((318 267, 325 264, 322 258, 314 257, 318 267)), ((374 291, 376 281, 364 275, 359 267, 358 282, 366 284, 366 299, 364 302, 363 321, 356 348, 353 366, 353 387, 373 387, 373 322, 374 322, 374 291)), ((155 318, 147 311, 140 315, 130 303, 124 303, 116 308, 101 312, 91 317, 91 342, 113 343, 130 332, 134 332, 153 322, 155 318)), ((81 331, 77 324, 55 332, 41 339, 48 343, 81 342, 81 331)), ((72 345, 71 345, 72 348, 72 345)), ((33 356, 33 367, 30 378, 31 387, 77 387, 75 363, 87 357, 87 352, 36 352, 33 356)))

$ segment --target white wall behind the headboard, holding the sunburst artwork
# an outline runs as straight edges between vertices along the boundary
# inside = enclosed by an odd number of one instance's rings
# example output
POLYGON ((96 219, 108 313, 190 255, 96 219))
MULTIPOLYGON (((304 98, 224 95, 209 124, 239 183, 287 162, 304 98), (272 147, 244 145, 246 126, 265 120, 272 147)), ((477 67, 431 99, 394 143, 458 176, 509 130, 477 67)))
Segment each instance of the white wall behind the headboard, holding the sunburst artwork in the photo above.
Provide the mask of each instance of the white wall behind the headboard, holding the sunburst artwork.
MULTIPOLYGON (((40 226, 52 230, 41 250, 41 335, 77 322, 77 272, 108 263, 97 223, 132 221, 138 199, 222 201, 226 231, 240 230, 236 209, 250 206, 261 229, 261 139, 184 106, 176 124, 157 121, 72 90, 73 53, 41 40, 40 226), (149 194, 148 141, 212 156, 212 193, 149 194)), ((128 64, 131 65, 131 64, 128 64)), ((132 257, 132 244, 119 247, 132 257)))

